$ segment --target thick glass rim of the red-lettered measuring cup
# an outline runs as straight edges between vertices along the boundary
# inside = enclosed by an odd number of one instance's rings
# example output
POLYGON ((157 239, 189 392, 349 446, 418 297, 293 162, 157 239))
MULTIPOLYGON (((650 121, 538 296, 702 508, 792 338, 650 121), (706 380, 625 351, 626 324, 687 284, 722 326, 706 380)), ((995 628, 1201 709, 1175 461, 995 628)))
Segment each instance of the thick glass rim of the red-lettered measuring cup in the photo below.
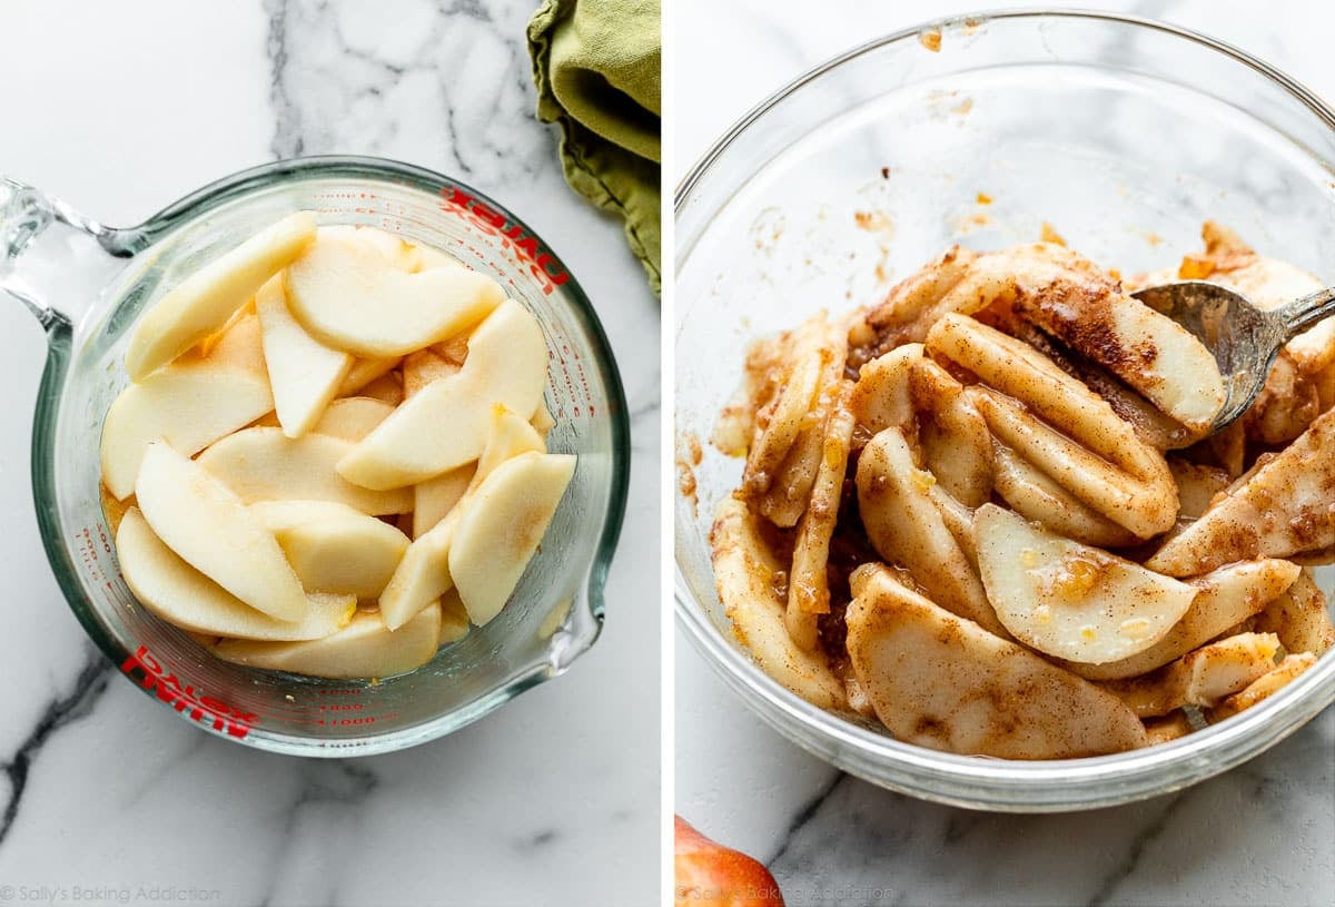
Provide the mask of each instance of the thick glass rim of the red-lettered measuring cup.
MULTIPOLYGON (((275 182, 287 178, 323 179, 339 176, 392 183, 435 195, 441 194, 446 187, 457 187, 473 199, 503 215, 509 223, 521 227, 525 235, 533 236, 538 243, 539 251, 550 255, 555 266, 569 277, 561 286, 561 295, 570 305, 577 321, 587 335, 590 347, 594 350, 594 366, 607 390, 607 417, 611 434, 611 470, 607 480, 607 504, 601 514, 602 529, 594 546, 593 557, 583 570, 581 594, 571 602, 571 612, 567 621, 570 621, 573 630, 566 634, 553 634, 543 652, 543 657, 529 664, 515 665, 511 679, 506 684, 493 688, 473 701, 430 720, 382 733, 370 732, 359 736, 327 740, 290 735, 264 727, 263 724, 254 727, 244 737, 236 737, 210 728, 207 724, 200 724, 190 719, 187 713, 172 709, 192 727, 206 733, 234 740, 256 749, 286 755, 340 759, 346 756, 394 752, 453 733, 490 715, 519 693, 565 673, 575 659, 594 645, 601 636, 606 610, 605 589, 607 573, 621 536, 621 528, 625 522, 630 485, 630 422, 625 389, 621 382, 621 373, 617 367, 611 343, 602 327, 597 310, 578 279, 566 267, 555 250, 510 208, 494 200, 486 192, 453 176, 387 158, 360 155, 284 158, 212 180, 160 208, 136 227, 108 230, 104 235, 99 236, 99 242, 108 254, 117 258, 131 258, 154 247, 179 227, 206 216, 216 207, 244 198, 252 191, 272 186, 275 182)), ((103 289, 115 286, 120 279, 121 275, 117 274, 103 289)), ((88 311, 83 313, 79 323, 84 323, 89 314, 99 309, 100 306, 92 306, 88 311)), ((65 602, 89 639, 113 663, 117 673, 124 680, 139 688, 150 699, 171 707, 170 703, 160 700, 154 693, 151 685, 146 688, 125 671, 124 665, 131 653, 103 624, 97 609, 87 604, 77 569, 63 541, 64 536, 61 534, 61 520, 55 490, 56 457, 53 453, 56 425, 61 409, 61 391, 68 375, 76 327, 76 323, 60 317, 55 319, 48 331, 47 361, 33 415, 29 469, 32 474, 33 505, 43 546, 65 602)), ((338 683, 359 684, 366 681, 338 683)))

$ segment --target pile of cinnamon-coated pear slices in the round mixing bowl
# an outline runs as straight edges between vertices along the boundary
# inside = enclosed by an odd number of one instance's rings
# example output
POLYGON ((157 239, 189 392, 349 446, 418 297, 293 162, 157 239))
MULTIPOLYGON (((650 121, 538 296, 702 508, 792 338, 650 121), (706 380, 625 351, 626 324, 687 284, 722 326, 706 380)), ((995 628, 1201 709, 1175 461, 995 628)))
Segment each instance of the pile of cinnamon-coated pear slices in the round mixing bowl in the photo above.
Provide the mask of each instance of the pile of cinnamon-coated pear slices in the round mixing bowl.
POLYGON ((745 457, 710 533, 740 641, 817 707, 1007 759, 1167 741, 1335 645, 1335 319, 1251 409, 1129 291, 1320 289, 1232 231, 1125 282, 1060 242, 959 246, 878 305, 746 353, 714 443, 745 457))

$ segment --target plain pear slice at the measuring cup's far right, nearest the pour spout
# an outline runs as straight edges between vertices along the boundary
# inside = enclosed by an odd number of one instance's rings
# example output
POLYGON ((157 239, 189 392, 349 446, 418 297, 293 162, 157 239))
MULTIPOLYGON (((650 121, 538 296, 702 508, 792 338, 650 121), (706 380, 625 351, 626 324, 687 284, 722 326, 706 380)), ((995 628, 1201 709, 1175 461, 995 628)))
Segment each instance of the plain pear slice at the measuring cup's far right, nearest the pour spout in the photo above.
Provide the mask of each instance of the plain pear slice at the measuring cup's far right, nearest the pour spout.
POLYGON ((574 473, 570 454, 522 453, 469 496, 450 544, 450 576, 478 626, 509 601, 574 473))

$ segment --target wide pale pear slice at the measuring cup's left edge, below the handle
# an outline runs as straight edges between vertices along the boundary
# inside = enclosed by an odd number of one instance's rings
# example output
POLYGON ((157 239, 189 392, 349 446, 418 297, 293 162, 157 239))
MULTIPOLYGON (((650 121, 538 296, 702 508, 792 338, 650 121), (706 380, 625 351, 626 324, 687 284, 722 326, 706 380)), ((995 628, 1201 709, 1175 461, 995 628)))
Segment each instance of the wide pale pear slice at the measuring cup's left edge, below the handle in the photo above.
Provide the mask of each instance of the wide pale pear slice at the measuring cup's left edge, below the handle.
POLYGON ((124 500, 151 441, 192 456, 274 409, 263 375, 210 359, 176 362, 129 385, 101 426, 101 481, 124 500))

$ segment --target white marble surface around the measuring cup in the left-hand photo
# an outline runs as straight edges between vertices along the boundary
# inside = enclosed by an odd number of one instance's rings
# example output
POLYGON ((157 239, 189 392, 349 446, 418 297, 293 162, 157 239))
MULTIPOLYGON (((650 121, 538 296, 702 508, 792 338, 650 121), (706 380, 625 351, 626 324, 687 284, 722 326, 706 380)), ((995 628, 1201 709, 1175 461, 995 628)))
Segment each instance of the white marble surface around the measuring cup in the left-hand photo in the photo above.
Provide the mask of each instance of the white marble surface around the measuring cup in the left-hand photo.
POLYGON ((0 172, 109 223, 292 154, 453 174, 522 212, 594 299, 634 441, 606 628, 569 675, 407 752, 271 756, 154 705, 85 641, 32 509, 41 331, 0 305, 0 904, 655 900, 659 309, 531 116, 534 5, 0 4, 0 172))

